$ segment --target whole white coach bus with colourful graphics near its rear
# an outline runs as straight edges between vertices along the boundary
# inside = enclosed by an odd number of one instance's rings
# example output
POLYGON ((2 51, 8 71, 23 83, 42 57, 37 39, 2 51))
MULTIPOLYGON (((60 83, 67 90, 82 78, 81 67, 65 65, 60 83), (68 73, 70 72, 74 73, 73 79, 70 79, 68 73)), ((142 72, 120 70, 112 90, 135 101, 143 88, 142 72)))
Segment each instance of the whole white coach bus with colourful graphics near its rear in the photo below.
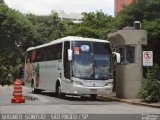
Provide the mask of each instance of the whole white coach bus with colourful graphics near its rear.
MULTIPOLYGON (((118 54, 117 54, 118 55, 118 54)), ((120 56, 117 57, 120 61, 120 56)), ((25 84, 32 92, 110 94, 113 89, 112 51, 106 40, 68 36, 30 47, 25 58, 25 84)))

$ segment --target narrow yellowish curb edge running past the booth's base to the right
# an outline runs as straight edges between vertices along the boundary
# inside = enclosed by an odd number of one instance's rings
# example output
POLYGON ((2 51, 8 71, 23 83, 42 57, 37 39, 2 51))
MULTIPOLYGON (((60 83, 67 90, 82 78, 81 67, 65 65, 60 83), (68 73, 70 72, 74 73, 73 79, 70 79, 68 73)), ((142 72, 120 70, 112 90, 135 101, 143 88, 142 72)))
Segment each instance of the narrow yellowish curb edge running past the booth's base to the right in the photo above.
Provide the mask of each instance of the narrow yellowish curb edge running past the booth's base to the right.
POLYGON ((140 102, 135 102, 135 101, 131 101, 131 100, 127 100, 127 99, 120 99, 120 98, 115 98, 115 97, 110 97, 110 96, 98 96, 100 98, 105 98, 105 99, 109 99, 112 101, 117 101, 117 102, 123 102, 123 103, 128 103, 128 104, 132 104, 132 105, 141 105, 141 106, 147 106, 147 107, 153 107, 153 108, 160 108, 160 105, 154 105, 154 104, 149 104, 149 103, 140 103, 140 102))

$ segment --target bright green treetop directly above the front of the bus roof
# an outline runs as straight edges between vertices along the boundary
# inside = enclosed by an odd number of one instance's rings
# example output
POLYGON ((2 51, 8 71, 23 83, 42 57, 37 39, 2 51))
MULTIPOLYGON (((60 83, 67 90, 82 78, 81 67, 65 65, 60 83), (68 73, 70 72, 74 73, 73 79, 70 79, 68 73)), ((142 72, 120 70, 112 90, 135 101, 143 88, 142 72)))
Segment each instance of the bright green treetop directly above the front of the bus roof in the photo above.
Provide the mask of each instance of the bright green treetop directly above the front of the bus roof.
POLYGON ((83 15, 83 22, 72 25, 67 35, 107 39, 114 18, 102 11, 83 13, 83 15))

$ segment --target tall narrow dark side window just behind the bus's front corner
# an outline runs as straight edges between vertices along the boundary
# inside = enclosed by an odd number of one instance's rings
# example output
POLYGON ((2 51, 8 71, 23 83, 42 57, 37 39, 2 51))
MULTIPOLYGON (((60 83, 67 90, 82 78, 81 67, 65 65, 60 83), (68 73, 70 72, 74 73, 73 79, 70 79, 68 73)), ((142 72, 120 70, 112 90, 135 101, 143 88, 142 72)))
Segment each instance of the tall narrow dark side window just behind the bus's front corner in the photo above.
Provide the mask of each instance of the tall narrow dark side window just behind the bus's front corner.
POLYGON ((68 49, 70 49, 70 42, 64 42, 63 64, 64 77, 70 79, 70 62, 68 61, 68 49))

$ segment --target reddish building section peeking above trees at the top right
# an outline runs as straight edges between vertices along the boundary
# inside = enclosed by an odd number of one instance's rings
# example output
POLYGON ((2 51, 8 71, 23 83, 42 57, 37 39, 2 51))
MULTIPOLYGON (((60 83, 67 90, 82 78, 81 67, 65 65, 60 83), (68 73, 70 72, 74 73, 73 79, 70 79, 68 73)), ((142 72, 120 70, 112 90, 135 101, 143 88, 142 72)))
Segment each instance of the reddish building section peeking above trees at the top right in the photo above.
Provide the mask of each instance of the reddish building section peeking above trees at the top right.
POLYGON ((125 6, 128 6, 129 4, 135 2, 136 0, 115 0, 115 15, 118 15, 118 13, 123 10, 125 6))

